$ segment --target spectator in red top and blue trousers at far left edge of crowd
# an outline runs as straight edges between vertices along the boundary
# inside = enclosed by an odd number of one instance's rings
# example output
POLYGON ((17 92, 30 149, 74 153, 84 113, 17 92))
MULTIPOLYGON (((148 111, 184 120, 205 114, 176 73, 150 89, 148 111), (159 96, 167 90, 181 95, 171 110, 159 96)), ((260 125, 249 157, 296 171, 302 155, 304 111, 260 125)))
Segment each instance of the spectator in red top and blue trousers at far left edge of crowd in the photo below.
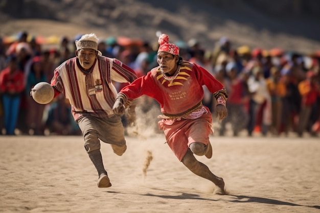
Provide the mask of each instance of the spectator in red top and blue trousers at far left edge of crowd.
POLYGON ((21 93, 25 89, 24 73, 17 67, 15 56, 9 56, 9 65, 0 73, 0 91, 5 114, 7 135, 14 135, 21 93))

